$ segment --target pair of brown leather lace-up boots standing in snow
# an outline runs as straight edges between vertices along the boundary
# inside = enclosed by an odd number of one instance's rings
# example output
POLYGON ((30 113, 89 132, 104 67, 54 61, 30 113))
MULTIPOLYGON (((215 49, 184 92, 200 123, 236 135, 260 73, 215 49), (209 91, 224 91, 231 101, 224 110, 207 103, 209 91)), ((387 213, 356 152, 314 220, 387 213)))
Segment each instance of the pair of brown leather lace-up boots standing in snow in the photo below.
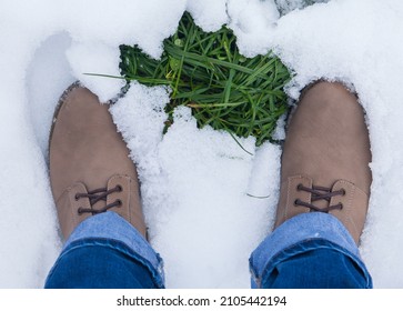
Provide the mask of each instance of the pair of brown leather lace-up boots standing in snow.
MULTIPOLYGON (((50 137, 50 180, 64 238, 87 218, 114 211, 145 238, 139 180, 108 110, 78 83, 60 99, 50 137)), ((337 218, 356 243, 372 181, 364 112, 341 83, 303 91, 284 142, 275 227, 306 212, 337 218)))

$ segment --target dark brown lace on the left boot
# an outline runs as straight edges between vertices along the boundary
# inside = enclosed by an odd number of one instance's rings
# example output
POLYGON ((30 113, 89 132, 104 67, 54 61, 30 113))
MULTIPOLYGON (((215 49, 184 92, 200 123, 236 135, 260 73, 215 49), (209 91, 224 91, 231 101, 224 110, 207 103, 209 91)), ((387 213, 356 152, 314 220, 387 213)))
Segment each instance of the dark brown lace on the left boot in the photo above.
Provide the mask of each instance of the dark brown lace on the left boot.
POLYGON ((118 199, 114 202, 107 204, 102 209, 97 210, 97 209, 92 208, 92 205, 99 201, 107 202, 107 198, 109 194, 111 194, 113 192, 121 192, 121 191, 122 191, 122 187, 120 184, 118 184, 115 188, 112 188, 109 190, 107 188, 99 188, 99 189, 95 189, 92 191, 88 191, 88 193, 77 193, 75 194, 77 201, 81 198, 88 198, 90 200, 90 204, 91 204, 91 209, 79 208, 78 213, 79 214, 82 214, 82 213, 98 214, 98 213, 103 213, 103 212, 108 211, 109 209, 122 205, 122 201, 118 199))

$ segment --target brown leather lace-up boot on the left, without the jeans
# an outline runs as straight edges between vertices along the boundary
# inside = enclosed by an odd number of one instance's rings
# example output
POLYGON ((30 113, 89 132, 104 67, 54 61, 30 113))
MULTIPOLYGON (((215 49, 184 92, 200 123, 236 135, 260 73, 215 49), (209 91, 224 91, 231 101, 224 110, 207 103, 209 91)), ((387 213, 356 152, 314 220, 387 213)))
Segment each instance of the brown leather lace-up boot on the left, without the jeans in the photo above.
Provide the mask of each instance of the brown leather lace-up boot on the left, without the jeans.
POLYGON ((107 104, 78 83, 62 96, 49 143, 50 182, 68 238, 87 218, 114 211, 145 237, 137 169, 107 104))

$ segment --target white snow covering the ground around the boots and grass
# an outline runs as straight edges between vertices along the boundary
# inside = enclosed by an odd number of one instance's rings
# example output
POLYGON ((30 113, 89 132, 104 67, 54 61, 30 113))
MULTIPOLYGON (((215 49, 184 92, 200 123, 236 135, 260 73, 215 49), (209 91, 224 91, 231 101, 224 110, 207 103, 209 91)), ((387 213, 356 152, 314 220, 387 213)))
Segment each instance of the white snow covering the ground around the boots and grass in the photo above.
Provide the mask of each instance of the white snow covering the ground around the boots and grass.
MULTIPOLYGON (((304 1, 276 2, 288 11, 304 1)), ((332 0, 281 18, 273 0, 0 0, 0 287, 42 287, 61 248, 47 168, 58 97, 79 79, 113 98, 120 80, 82 73, 119 74, 121 43, 158 58, 184 10, 209 31, 228 23, 245 56, 274 49, 295 72, 291 97, 321 77, 354 86, 373 153, 361 252, 375 287, 402 288, 401 0, 332 0)), ((249 156, 229 134, 197 129, 184 108, 162 136, 167 101, 165 89, 133 84, 111 109, 138 163, 167 287, 248 288, 248 258, 273 222, 281 150, 242 140, 249 156)))

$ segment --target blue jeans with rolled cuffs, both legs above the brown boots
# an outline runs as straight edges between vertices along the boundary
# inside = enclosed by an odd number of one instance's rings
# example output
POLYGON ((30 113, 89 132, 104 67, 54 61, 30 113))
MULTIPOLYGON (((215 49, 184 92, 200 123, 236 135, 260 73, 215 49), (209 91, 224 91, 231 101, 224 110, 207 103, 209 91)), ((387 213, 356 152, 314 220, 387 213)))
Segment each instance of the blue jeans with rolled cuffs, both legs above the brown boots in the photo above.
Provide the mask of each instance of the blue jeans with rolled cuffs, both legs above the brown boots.
MULTIPOLYGON (((123 218, 105 212, 83 221, 50 271, 46 288, 162 289, 161 257, 123 218)), ((372 288, 359 250, 337 219, 294 217, 250 258, 252 288, 372 288)))

